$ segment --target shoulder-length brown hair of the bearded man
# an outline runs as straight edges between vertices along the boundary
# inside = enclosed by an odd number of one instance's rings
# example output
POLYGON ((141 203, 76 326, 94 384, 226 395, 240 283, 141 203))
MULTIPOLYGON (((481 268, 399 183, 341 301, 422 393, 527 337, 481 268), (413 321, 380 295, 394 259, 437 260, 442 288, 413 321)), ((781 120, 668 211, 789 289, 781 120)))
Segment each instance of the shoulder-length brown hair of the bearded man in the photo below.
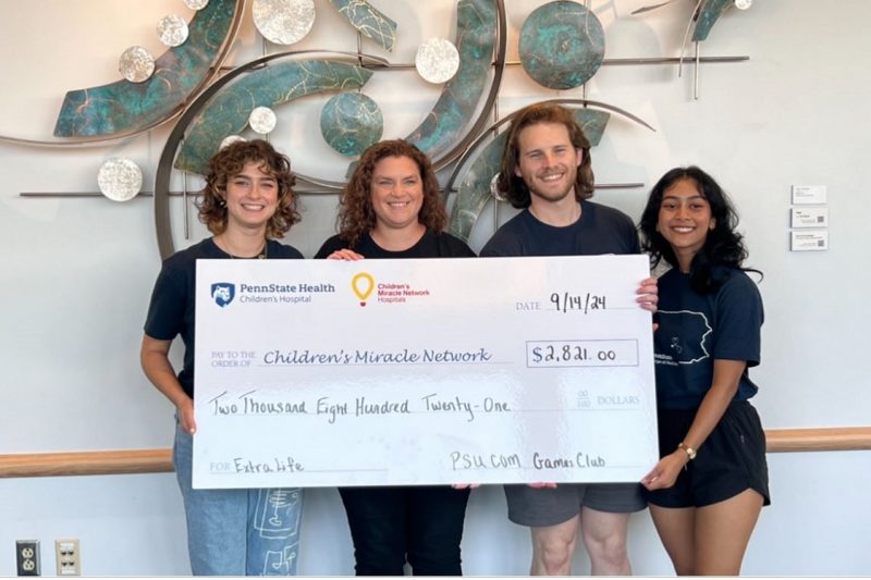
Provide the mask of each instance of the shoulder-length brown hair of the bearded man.
POLYGON ((524 178, 518 176, 516 169, 519 164, 519 137, 523 129, 539 123, 555 123, 564 125, 568 131, 568 138, 575 149, 580 149, 584 155, 575 177, 575 199, 589 199, 592 197, 594 178, 592 174, 592 159, 590 159, 590 141, 584 129, 575 121, 572 111, 553 102, 538 102, 520 109, 514 113, 508 129, 508 140, 502 152, 502 165, 496 177, 496 188, 505 196, 508 202, 518 209, 526 209, 532 203, 531 193, 524 178))

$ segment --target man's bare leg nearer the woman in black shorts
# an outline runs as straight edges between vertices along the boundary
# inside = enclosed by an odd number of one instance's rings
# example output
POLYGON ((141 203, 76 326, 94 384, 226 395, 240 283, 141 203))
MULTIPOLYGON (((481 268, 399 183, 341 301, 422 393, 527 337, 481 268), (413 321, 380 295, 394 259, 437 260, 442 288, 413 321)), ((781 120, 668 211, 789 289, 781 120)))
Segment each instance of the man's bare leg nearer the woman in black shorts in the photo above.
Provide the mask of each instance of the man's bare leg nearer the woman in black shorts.
POLYGON ((581 508, 580 529, 590 555, 592 576, 631 576, 626 553, 628 525, 629 514, 581 508))

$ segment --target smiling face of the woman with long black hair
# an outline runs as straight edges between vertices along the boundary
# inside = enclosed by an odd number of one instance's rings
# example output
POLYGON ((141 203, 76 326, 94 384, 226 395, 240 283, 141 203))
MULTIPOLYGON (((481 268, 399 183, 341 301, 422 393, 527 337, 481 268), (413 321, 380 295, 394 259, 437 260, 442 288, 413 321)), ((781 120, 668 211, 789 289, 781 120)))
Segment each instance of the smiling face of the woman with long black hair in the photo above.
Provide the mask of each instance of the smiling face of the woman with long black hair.
POLYGON ((714 225, 711 205, 699 193, 694 180, 678 180, 665 189, 657 231, 672 246, 680 271, 689 272, 692 258, 704 246, 708 232, 714 225))

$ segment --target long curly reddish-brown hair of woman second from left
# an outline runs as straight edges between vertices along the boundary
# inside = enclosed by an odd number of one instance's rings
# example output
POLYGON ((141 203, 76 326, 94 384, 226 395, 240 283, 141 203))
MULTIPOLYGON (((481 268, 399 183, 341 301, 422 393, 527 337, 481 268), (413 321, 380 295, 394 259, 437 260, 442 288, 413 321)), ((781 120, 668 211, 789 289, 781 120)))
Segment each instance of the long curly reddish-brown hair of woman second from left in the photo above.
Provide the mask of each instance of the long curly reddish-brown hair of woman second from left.
POLYGON ((447 222, 447 214, 439 193, 439 182, 432 162, 417 147, 404 139, 383 140, 369 146, 354 168, 351 180, 342 192, 339 209, 339 236, 348 246, 355 246, 364 234, 371 232, 376 225, 372 209, 372 172, 376 164, 385 157, 407 157, 420 171, 424 184, 424 205, 417 214, 417 221, 428 230, 441 232, 447 222))

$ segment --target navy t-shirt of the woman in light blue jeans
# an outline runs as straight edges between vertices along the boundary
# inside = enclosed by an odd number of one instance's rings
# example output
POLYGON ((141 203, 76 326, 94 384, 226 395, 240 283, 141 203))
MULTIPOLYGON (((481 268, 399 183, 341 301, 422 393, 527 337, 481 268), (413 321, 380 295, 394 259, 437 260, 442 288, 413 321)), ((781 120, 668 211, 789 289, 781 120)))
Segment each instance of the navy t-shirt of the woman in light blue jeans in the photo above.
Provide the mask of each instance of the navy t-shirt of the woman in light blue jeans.
MULTIPOLYGON (((303 258, 296 248, 273 239, 267 243, 266 255, 270 260, 303 258)), ((184 367, 179 372, 179 382, 189 397, 194 396, 194 314, 198 259, 230 259, 230 255, 209 237, 167 258, 155 282, 145 320, 145 333, 151 338, 172 341, 182 335, 184 367)))

